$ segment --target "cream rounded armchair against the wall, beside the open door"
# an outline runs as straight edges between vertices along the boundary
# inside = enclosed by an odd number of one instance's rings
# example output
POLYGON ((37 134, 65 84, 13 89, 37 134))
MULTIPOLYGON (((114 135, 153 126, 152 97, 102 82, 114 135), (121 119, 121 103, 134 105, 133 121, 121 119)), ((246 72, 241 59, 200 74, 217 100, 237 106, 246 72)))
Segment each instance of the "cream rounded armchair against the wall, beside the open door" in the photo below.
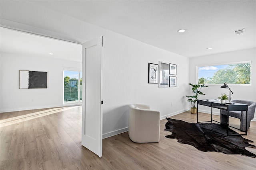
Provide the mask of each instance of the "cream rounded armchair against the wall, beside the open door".
POLYGON ((159 142, 160 112, 143 104, 129 105, 129 137, 136 143, 159 142))

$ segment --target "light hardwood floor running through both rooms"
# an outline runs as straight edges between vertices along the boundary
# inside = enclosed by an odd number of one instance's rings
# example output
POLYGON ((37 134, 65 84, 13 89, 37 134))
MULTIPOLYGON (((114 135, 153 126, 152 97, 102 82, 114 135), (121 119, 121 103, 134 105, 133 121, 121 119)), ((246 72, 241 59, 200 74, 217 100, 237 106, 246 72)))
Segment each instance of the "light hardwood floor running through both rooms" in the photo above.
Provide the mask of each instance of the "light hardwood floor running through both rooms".
MULTIPOLYGON (((133 143, 128 132, 103 139, 99 158, 81 146, 81 106, 1 113, 1 170, 255 170, 256 158, 202 152, 165 136, 160 123, 159 143, 133 143)), ((200 120, 209 120, 200 113, 200 120)), ((190 112, 173 116, 196 122, 190 112)), ((214 119, 219 116, 214 115, 214 119)), ((239 119, 231 119, 239 124, 239 119)), ((256 122, 247 136, 256 145, 256 122)), ((256 149, 251 149, 256 154, 256 149)))

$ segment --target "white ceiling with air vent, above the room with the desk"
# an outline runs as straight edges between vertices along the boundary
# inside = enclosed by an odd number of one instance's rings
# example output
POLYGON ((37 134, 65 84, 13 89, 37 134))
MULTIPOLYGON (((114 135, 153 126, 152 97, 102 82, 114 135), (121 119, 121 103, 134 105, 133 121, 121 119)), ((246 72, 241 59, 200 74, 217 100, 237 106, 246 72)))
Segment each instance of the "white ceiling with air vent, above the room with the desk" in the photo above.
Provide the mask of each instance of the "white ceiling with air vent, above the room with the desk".
POLYGON ((1 18, 5 20, 72 33, 74 37, 84 31, 75 27, 76 22, 84 21, 185 57, 256 47, 254 0, 1 0, 0 3, 1 18), (73 20, 64 21, 63 16, 73 20), (187 31, 178 33, 181 28, 187 31), (233 34, 232 31, 242 28, 246 29, 244 34, 233 34), (206 50, 208 47, 213 49, 206 50))

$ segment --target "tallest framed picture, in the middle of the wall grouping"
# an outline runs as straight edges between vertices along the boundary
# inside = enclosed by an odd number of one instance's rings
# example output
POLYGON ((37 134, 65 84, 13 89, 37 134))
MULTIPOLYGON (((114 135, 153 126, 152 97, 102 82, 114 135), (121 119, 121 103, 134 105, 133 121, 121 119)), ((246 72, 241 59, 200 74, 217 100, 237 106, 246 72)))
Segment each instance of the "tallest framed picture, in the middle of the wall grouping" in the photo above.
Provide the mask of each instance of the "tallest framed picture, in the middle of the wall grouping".
POLYGON ((169 87, 169 63, 159 61, 159 87, 169 87))

